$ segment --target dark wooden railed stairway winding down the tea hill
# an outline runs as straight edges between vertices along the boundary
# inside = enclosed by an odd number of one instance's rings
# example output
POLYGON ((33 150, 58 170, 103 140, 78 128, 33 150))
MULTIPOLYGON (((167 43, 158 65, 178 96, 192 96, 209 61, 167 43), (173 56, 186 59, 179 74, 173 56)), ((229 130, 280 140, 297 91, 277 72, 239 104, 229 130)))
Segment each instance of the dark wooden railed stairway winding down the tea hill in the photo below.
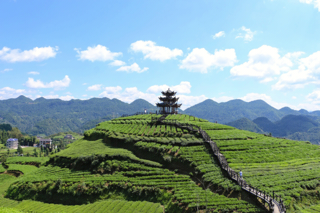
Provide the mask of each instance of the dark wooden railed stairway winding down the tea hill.
POLYGON ((244 191, 247 191, 248 193, 256 196, 257 199, 260 200, 263 206, 270 213, 272 212, 286 213, 286 209, 285 209, 283 200, 281 199, 281 195, 279 196, 273 192, 272 196, 270 196, 265 191, 261 191, 260 189, 258 189, 258 187, 253 187, 247 184, 247 182, 244 179, 241 179, 239 175, 229 167, 225 156, 220 153, 220 150, 217 144, 211 140, 209 135, 204 130, 202 130, 200 126, 190 125, 188 123, 180 123, 177 120, 165 119, 166 117, 167 115, 162 115, 160 118, 151 118, 151 122, 158 122, 164 125, 177 126, 179 128, 188 129, 188 131, 191 131, 191 132, 200 133, 204 141, 210 144, 213 154, 217 156, 221 168, 228 173, 228 177, 230 179, 233 179, 234 181, 236 181, 244 191), (267 206, 265 205, 266 203, 267 203, 267 206))

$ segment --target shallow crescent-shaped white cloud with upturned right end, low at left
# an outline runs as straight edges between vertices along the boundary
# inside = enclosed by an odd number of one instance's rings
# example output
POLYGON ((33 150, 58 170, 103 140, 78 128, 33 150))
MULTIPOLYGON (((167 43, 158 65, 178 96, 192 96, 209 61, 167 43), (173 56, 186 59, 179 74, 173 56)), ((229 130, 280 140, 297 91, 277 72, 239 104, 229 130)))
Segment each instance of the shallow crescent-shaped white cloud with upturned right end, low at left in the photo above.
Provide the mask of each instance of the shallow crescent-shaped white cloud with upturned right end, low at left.
POLYGON ((66 75, 62 80, 55 80, 49 83, 44 83, 40 79, 34 80, 33 78, 28 78, 27 82, 25 83, 25 86, 33 89, 54 88, 55 90, 58 90, 68 87, 70 85, 70 81, 71 80, 69 79, 68 75, 66 75))

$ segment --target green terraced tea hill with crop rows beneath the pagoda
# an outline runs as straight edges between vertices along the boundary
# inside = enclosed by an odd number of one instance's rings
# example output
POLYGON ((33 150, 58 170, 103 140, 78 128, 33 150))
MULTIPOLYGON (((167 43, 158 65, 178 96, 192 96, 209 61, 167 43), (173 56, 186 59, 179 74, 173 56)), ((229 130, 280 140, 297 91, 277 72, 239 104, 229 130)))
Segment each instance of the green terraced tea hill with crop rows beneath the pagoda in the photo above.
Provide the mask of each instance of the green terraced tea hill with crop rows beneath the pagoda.
MULTIPOLYGON (((282 195, 288 212, 319 202, 319 146, 188 115, 166 119, 201 126, 231 168, 241 169, 252 186, 282 195)), ((9 157, 0 168, 6 171, 0 174, 1 206, 39 213, 174 213, 206 207, 218 213, 265 212, 229 179, 199 133, 156 125, 151 115, 100 123, 38 167, 28 165, 37 158, 27 159, 9 157), (18 171, 23 175, 9 175, 18 171)))

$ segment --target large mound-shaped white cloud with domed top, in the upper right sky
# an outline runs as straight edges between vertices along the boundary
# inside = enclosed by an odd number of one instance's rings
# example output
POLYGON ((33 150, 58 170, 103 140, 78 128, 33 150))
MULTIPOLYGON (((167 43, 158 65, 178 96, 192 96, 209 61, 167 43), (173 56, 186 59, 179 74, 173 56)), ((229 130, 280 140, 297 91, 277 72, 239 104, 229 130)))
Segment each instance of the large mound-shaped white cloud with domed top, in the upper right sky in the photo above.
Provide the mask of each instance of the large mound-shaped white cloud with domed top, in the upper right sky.
MULTIPOLYGON (((236 65, 230 69, 232 76, 249 76, 257 78, 270 78, 279 75, 283 71, 289 71, 293 65, 286 57, 280 57, 278 49, 262 45, 250 50, 248 61, 236 65)), ((268 81, 270 79, 267 79, 268 81)))

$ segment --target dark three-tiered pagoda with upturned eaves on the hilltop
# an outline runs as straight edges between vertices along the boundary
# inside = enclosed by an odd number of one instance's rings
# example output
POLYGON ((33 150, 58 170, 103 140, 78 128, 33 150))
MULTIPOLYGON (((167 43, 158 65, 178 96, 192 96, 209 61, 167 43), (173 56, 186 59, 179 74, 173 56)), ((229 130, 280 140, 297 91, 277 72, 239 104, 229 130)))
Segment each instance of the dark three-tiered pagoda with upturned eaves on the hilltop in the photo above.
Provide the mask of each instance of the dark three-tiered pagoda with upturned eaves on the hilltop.
POLYGON ((159 97, 160 103, 157 103, 157 107, 159 107, 159 113, 160 114, 175 114, 178 113, 178 108, 182 105, 181 103, 178 104, 178 99, 176 97, 177 92, 172 92, 170 89, 167 91, 161 92, 164 97, 159 97))

